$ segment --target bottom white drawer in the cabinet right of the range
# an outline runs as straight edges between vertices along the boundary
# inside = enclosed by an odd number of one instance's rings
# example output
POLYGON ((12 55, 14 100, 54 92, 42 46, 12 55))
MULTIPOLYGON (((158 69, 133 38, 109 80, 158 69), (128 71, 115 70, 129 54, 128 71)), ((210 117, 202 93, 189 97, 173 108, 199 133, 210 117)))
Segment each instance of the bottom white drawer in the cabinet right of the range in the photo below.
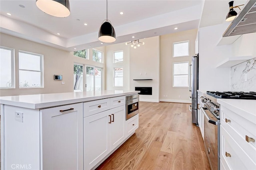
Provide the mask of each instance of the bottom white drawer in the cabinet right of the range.
POLYGON ((220 125, 220 159, 223 164, 228 164, 232 170, 256 169, 256 164, 222 125, 220 125))

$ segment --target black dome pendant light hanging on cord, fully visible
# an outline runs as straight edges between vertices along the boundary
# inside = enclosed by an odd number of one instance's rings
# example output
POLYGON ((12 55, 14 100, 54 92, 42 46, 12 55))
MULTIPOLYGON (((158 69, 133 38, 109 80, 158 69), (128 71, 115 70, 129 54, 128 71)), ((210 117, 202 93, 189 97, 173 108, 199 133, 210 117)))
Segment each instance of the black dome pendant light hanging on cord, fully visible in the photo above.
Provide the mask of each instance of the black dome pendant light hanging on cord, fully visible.
POLYGON ((104 43, 113 43, 116 41, 116 32, 110 20, 108 20, 108 0, 107 1, 107 19, 102 22, 99 30, 99 40, 104 43))

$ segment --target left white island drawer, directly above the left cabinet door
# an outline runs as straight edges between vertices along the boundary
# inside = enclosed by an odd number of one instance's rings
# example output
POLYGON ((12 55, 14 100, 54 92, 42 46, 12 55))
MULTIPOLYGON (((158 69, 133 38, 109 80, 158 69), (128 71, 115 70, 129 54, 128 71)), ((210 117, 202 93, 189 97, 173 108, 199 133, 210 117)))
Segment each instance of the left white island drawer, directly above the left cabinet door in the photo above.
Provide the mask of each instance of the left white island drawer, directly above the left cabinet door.
POLYGON ((95 100, 84 103, 84 117, 110 109, 110 99, 95 100))

